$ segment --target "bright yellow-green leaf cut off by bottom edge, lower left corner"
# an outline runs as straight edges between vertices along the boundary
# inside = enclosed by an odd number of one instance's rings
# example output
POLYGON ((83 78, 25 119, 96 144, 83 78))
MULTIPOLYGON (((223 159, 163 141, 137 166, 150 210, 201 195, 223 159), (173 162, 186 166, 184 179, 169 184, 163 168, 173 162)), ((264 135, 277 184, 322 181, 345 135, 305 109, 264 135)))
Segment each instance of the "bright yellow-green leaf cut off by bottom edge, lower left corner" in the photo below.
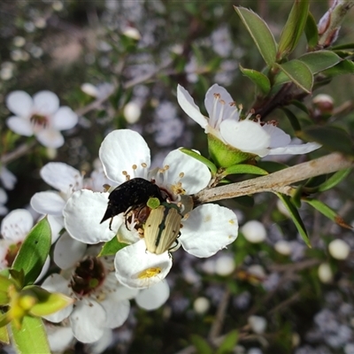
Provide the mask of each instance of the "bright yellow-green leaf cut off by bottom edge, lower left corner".
POLYGON ((50 354, 50 345, 42 319, 25 316, 20 328, 13 322, 11 327, 13 342, 19 354, 50 354))

